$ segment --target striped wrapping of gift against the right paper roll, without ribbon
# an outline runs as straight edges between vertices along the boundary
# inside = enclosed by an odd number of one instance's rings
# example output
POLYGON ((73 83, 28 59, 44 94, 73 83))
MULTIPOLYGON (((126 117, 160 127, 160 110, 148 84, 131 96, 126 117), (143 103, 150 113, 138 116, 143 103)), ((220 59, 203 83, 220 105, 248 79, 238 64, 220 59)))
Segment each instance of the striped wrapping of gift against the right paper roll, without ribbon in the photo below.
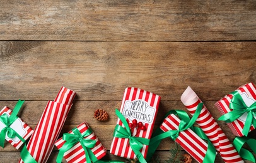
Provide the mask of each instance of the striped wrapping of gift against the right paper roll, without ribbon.
MULTIPOLYGON (((178 130, 180 119, 174 114, 168 115, 163 124, 160 125, 160 129, 163 132, 169 130, 178 130)), ((191 129, 184 130, 179 133, 175 140, 184 150, 186 150, 197 162, 203 162, 208 148, 208 144, 204 142, 194 131, 191 129)))

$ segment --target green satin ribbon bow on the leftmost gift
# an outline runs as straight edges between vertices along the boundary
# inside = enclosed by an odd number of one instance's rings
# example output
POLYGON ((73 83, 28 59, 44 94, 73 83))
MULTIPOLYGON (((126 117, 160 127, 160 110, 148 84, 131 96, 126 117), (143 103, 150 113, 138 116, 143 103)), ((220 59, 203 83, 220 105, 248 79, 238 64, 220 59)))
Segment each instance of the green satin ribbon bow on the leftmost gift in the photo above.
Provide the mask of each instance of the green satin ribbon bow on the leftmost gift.
POLYGON ((23 137, 21 137, 15 130, 11 129, 10 127, 11 124, 13 124, 13 122, 15 122, 15 120, 18 118, 17 114, 20 111, 20 108, 23 105, 23 103, 24 103, 24 100, 22 101, 18 100, 18 102, 15 105, 15 108, 13 109, 13 112, 9 117, 6 113, 0 116, 1 122, 3 122, 3 124, 6 125, 6 127, 4 127, 4 129, 1 130, 1 134, 0 134, 1 147, 4 147, 4 140, 5 140, 6 134, 10 139, 14 139, 15 137, 18 137, 18 139, 20 139, 22 142, 25 142, 23 137))

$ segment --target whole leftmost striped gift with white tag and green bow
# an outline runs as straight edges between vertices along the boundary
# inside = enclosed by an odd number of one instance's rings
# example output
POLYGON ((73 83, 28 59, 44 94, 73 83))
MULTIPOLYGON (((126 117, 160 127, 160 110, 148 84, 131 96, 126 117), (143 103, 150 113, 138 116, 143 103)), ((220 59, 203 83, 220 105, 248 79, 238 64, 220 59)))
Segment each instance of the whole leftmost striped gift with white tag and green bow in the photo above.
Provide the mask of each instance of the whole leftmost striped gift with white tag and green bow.
POLYGON ((4 147, 4 139, 6 139, 16 149, 32 134, 33 129, 28 126, 17 114, 24 101, 19 100, 13 111, 8 107, 4 107, 0 111, 0 146, 4 147))

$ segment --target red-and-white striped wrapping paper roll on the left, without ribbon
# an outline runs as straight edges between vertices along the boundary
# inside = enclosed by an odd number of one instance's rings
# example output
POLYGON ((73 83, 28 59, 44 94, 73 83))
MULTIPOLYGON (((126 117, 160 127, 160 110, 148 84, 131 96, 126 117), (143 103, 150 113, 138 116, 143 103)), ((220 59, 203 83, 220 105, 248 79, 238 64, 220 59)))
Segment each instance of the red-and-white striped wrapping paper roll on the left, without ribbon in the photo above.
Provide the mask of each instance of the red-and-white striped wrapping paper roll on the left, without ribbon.
MULTIPOLYGON (((76 93, 72 90, 62 87, 54 102, 47 103, 27 145, 28 152, 37 162, 47 162, 75 95, 76 93)), ((20 159, 19 162, 23 162, 23 160, 20 159)))

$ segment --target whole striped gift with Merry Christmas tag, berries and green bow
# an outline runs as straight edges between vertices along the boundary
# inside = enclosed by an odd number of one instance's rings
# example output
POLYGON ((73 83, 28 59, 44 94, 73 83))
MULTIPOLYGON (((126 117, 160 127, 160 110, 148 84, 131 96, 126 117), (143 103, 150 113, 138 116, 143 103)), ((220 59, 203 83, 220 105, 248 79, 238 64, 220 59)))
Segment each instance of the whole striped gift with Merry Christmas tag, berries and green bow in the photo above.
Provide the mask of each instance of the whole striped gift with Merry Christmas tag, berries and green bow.
POLYGON ((160 96, 129 87, 125 89, 110 153, 146 162, 149 139, 153 132, 160 96))

